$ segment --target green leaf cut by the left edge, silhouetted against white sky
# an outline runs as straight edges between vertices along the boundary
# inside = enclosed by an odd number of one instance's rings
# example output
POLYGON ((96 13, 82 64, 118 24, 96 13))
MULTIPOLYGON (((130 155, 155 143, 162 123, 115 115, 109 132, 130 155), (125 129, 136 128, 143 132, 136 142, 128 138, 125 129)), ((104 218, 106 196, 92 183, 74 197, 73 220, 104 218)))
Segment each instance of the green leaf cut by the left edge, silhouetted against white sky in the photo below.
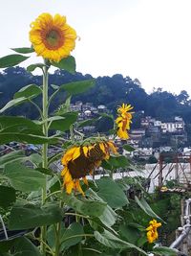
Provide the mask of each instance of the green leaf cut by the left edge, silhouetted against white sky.
POLYGON ((12 67, 18 65, 29 57, 22 55, 9 55, 3 58, 0 58, 0 68, 12 67))

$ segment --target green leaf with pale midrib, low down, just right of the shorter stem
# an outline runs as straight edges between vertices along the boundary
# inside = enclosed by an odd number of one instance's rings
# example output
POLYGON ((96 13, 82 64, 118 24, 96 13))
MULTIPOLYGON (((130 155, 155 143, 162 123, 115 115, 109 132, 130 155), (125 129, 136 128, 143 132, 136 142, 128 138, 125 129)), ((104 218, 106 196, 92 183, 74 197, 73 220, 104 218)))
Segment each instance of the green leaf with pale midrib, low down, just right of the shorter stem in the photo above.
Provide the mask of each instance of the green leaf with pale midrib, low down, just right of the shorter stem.
POLYGON ((67 249, 74 244, 78 244, 84 238, 83 234, 83 226, 80 223, 74 222, 70 224, 61 238, 61 250, 67 249))

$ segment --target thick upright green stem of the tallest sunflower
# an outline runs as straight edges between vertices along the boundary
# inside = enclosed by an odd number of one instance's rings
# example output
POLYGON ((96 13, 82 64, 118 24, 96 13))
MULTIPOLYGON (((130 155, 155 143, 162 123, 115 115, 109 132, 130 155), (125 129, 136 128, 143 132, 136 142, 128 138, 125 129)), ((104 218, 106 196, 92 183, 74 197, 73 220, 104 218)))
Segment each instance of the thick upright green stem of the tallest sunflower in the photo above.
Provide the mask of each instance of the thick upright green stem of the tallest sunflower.
MULTIPOLYGON (((43 114, 43 133, 48 137, 48 67, 43 67, 43 97, 42 97, 42 114, 43 114)), ((42 167, 48 167, 48 144, 43 144, 42 147, 42 167)), ((45 187, 42 189, 42 205, 45 203, 47 198, 47 177, 45 187)), ((41 253, 46 256, 46 237, 47 237, 47 226, 44 225, 41 228, 41 253)))

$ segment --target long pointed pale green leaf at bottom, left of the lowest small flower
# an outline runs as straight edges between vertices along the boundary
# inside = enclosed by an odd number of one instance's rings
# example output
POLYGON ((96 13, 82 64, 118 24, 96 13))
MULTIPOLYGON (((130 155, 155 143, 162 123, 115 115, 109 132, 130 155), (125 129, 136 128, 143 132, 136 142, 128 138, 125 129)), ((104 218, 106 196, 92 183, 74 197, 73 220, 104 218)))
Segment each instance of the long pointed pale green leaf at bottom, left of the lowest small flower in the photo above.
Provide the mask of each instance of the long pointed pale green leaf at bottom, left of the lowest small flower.
POLYGON ((135 244, 127 243, 126 241, 123 241, 117 236, 113 235, 108 230, 104 230, 103 233, 99 233, 98 231, 95 231, 95 238, 100 243, 107 247, 111 248, 119 248, 119 249, 125 249, 125 248, 133 248, 141 252, 143 255, 147 255, 145 251, 138 248, 135 244))

